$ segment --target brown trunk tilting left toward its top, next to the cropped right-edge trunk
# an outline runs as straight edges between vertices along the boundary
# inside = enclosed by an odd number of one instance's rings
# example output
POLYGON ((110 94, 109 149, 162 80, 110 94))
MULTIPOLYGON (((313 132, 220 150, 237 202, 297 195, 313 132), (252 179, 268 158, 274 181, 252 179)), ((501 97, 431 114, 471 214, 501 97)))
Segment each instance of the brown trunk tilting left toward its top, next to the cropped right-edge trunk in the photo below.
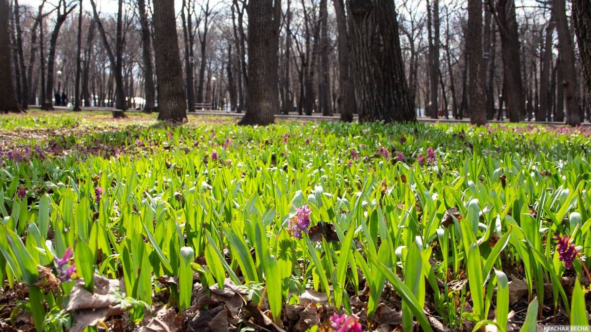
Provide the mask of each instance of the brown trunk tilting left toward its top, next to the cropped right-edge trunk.
MULTIPOLYGON (((553 0, 552 11, 556 19, 556 31, 558 32, 558 53, 563 58, 562 69, 564 81, 560 84, 564 87, 566 98, 566 123, 577 126, 581 123, 579 102, 577 102, 577 73, 574 70, 574 46, 573 37, 569 30, 569 21, 566 17, 566 4, 564 0, 553 0)), ((587 3, 587 6, 589 4, 587 3)))

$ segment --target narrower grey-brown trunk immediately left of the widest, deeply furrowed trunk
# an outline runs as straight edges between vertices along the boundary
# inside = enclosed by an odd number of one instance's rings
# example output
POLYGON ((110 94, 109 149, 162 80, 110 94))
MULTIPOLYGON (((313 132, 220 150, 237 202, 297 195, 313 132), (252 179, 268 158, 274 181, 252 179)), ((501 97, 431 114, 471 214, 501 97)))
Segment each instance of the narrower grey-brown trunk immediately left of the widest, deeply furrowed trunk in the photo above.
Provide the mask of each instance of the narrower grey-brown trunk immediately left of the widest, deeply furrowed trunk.
POLYGON ((339 31, 338 52, 339 52, 339 105, 340 120, 345 122, 353 121, 353 113, 356 112, 355 104, 355 82, 350 75, 351 65, 351 44, 347 21, 345 16, 345 4, 343 0, 333 0, 335 4, 336 24, 339 31))

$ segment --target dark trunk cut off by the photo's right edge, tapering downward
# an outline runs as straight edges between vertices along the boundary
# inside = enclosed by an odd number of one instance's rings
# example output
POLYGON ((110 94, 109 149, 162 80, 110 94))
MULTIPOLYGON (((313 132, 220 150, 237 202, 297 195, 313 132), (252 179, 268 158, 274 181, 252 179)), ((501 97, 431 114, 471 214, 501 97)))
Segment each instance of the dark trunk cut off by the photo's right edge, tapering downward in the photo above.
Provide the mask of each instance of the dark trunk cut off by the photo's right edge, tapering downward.
POLYGON ((574 31, 577 34, 587 102, 591 103, 591 5, 589 0, 573 0, 574 31))

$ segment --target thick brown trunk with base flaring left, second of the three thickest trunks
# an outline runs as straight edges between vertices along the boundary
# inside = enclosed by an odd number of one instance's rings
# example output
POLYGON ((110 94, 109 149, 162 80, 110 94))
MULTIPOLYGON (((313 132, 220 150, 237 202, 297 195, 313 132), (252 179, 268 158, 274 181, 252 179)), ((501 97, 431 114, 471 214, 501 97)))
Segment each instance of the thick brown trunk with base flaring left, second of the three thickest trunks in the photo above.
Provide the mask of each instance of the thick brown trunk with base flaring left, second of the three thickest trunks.
POLYGON ((240 125, 274 123, 279 109, 278 57, 281 0, 249 2, 248 109, 240 125))

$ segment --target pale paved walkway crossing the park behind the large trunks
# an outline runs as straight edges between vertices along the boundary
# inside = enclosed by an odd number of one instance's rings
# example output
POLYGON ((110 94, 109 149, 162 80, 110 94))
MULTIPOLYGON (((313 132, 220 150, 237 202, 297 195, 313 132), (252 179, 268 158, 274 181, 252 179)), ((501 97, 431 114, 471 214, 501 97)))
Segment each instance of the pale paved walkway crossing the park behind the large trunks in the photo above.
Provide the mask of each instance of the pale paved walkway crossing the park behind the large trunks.
MULTIPOLYGON (((31 108, 40 108, 41 106, 30 106, 31 108)), ((65 107, 65 106, 54 106, 55 109, 57 110, 72 110, 72 108, 69 107, 65 107)), ((98 111, 98 112, 111 112, 112 110, 115 110, 114 108, 105 108, 105 107, 82 107, 82 110, 88 110, 88 111, 98 111)), ((126 112, 141 112, 139 110, 127 110, 126 112)), ((236 113, 236 112, 225 112, 223 110, 197 110, 195 112, 187 112, 188 115, 192 115, 192 116, 232 116, 234 118, 242 118, 242 116, 244 116, 244 113, 236 113)), ((285 115, 285 114, 276 114, 275 115, 276 119, 292 119, 292 120, 305 120, 305 121, 339 121, 339 113, 335 113, 335 115, 333 116, 322 116, 319 115, 317 113, 314 113, 313 115, 298 115, 297 113, 290 113, 289 115, 285 115)), ((358 116, 353 116, 354 121, 358 120, 358 116)), ((444 119, 444 118, 440 118, 440 119, 431 119, 431 118, 426 118, 424 116, 419 116, 417 117, 417 121, 419 122, 440 122, 440 123, 470 123, 470 119, 469 118, 463 118, 461 120, 457 120, 457 119, 444 119)), ((497 120, 491 120, 489 121, 491 123, 509 123, 508 120, 505 121, 497 121, 497 120)), ((553 126, 560 126, 560 125, 564 125, 564 122, 538 122, 538 121, 523 121, 522 123, 531 123, 531 124, 539 124, 539 125, 553 125, 553 126)), ((591 123, 589 122, 583 122, 582 123, 583 126, 591 126, 591 123)))

